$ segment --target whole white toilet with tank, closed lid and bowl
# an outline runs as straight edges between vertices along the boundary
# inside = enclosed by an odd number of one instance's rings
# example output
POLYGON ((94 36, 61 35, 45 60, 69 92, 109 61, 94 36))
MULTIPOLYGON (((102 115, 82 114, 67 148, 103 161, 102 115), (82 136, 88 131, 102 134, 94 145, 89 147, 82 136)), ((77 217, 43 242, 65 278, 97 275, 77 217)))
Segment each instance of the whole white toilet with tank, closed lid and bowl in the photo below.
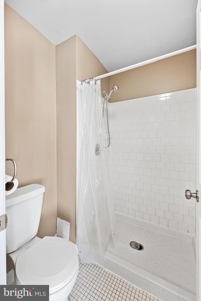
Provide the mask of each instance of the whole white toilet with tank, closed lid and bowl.
POLYGON ((60 237, 36 236, 45 187, 31 184, 6 196, 6 253, 18 285, 49 285, 50 301, 67 301, 79 271, 75 245, 60 237))

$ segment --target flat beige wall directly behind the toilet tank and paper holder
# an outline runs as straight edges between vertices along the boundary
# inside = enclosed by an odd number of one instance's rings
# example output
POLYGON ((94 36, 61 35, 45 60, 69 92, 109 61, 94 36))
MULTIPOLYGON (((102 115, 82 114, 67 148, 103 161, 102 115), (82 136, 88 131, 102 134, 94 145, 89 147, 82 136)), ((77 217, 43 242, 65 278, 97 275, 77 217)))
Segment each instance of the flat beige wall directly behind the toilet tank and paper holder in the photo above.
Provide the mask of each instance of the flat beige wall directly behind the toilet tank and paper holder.
MULTIPOLYGON (((6 4, 5 137, 6 156, 17 163, 19 187, 46 187, 38 236, 55 235, 55 46, 6 4)), ((11 162, 6 173, 13 173, 11 162)))

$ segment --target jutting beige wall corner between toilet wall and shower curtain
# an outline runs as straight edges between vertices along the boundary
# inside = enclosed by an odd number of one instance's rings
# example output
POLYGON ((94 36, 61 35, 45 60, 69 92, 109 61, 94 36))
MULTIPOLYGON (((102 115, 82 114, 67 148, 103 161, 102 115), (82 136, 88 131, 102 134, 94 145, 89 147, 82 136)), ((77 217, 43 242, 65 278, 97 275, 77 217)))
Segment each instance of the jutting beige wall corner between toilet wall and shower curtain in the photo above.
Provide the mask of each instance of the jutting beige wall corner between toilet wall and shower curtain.
MULTIPOLYGON (((70 222, 76 242, 76 79, 106 73, 96 56, 74 35, 56 46, 57 215, 70 222)), ((109 90, 109 79, 102 83, 109 90)))

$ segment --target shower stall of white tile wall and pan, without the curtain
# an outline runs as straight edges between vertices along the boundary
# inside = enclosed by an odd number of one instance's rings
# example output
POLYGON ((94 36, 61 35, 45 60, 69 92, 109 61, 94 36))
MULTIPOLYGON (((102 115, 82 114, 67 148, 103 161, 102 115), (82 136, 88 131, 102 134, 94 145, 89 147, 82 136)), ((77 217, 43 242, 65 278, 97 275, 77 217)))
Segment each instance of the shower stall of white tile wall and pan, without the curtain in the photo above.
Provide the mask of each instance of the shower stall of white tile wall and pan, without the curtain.
POLYGON ((185 189, 195 190, 196 90, 108 103, 112 91, 101 113, 116 222, 96 262, 163 301, 195 301, 195 202, 185 189))

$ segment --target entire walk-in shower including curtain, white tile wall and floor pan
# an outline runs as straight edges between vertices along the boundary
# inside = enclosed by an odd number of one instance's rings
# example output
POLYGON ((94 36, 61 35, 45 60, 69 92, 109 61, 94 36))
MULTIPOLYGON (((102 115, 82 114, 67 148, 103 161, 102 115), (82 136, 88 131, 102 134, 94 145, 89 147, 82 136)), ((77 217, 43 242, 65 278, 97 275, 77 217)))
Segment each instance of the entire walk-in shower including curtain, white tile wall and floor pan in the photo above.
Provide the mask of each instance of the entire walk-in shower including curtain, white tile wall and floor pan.
POLYGON ((80 142, 86 150, 84 157, 79 153, 79 195, 91 202, 84 203, 87 210, 78 217, 81 260, 99 263, 163 301, 195 301, 195 203, 185 198, 185 187, 195 190, 196 90, 109 103, 116 85, 109 93, 102 91, 105 99, 100 86, 79 86, 83 88, 94 88, 96 97, 79 102, 79 121, 85 120, 89 108, 95 110, 80 142), (101 131, 95 130, 97 120, 101 131), (94 152, 97 143, 105 145, 100 156, 94 152), (112 196, 106 186, 110 182, 112 196), (89 227, 83 232, 85 218, 89 227), (90 233, 88 240, 83 240, 85 233, 90 233))

